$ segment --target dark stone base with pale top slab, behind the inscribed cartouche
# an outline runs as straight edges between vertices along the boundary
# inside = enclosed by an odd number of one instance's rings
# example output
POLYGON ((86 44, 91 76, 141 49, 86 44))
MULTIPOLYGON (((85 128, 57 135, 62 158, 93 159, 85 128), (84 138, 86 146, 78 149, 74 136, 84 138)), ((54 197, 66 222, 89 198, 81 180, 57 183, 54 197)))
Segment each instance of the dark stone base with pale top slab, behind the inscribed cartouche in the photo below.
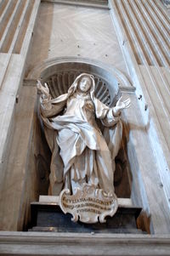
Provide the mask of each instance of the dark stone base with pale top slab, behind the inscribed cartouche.
POLYGON ((137 229, 136 219, 141 208, 133 207, 129 199, 118 199, 116 214, 106 217, 106 223, 84 224, 71 221, 71 214, 59 208, 58 196, 41 196, 39 202, 31 203, 31 231, 77 232, 77 233, 142 233, 137 229), (43 202, 42 202, 43 201, 43 202))

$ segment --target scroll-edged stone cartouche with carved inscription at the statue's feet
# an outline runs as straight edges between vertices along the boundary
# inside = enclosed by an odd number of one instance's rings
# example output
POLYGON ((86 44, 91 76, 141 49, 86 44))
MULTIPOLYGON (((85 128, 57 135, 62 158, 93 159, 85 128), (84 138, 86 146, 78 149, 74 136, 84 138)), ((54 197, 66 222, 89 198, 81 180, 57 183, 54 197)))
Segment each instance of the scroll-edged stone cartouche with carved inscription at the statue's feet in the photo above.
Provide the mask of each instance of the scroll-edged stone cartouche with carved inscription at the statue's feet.
POLYGON ((77 188, 74 195, 69 190, 61 191, 59 206, 64 213, 71 213, 74 222, 105 223, 106 216, 113 216, 118 208, 116 195, 107 195, 94 185, 84 185, 77 188))

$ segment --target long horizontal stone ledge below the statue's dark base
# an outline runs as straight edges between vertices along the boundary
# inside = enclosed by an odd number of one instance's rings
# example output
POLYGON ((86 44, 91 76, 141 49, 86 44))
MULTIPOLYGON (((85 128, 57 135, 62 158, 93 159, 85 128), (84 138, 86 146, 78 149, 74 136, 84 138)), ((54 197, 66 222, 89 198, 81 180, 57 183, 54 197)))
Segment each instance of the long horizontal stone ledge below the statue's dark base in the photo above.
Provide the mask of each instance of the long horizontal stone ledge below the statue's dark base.
POLYGON ((170 236, 0 232, 1 255, 169 255, 170 236))

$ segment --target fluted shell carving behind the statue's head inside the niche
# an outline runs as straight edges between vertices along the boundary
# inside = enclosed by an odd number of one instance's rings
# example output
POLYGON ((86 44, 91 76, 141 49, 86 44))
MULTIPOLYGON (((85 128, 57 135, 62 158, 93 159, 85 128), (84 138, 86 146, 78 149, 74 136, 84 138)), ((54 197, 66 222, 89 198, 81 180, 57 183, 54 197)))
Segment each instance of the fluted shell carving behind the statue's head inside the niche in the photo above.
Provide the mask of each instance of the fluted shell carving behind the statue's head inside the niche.
MULTIPOLYGON (((65 71, 54 74, 51 77, 48 77, 45 82, 48 83, 48 88, 51 96, 53 98, 58 97, 60 94, 66 94, 68 88, 71 87, 71 84, 75 81, 76 77, 80 75, 82 71, 65 71)), ((94 75, 95 80, 95 91, 94 95, 97 99, 103 102, 105 105, 111 104, 111 95, 109 89, 107 88, 106 82, 94 75)))

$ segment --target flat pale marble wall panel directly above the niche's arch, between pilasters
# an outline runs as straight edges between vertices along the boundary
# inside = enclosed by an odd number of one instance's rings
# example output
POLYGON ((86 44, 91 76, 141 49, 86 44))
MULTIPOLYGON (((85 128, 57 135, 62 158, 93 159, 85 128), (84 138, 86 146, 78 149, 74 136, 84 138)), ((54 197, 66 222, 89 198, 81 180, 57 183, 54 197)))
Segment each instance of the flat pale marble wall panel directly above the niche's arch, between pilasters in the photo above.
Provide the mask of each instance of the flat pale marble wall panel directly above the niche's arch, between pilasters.
POLYGON ((26 73, 43 60, 61 56, 99 60, 127 74, 107 9, 41 3, 26 73))

